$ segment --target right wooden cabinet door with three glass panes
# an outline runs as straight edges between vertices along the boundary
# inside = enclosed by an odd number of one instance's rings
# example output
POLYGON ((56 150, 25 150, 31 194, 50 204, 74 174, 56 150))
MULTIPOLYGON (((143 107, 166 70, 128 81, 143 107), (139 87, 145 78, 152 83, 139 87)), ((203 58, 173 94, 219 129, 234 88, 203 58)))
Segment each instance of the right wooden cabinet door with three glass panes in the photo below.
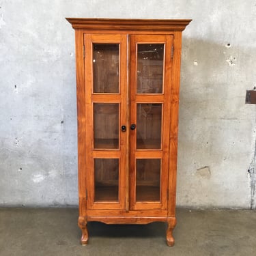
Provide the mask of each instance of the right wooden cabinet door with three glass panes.
POLYGON ((130 38, 130 208, 166 210, 172 35, 130 38))

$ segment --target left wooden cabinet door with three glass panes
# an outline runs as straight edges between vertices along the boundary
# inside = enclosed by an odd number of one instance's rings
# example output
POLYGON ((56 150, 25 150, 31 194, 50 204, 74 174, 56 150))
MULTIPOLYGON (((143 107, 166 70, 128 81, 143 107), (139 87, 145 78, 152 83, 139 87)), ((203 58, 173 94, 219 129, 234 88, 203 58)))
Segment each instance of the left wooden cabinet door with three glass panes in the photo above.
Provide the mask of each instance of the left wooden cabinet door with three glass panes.
POLYGON ((124 209, 127 152, 126 35, 85 35, 88 209, 124 209), (121 57, 122 56, 122 57, 121 57))

